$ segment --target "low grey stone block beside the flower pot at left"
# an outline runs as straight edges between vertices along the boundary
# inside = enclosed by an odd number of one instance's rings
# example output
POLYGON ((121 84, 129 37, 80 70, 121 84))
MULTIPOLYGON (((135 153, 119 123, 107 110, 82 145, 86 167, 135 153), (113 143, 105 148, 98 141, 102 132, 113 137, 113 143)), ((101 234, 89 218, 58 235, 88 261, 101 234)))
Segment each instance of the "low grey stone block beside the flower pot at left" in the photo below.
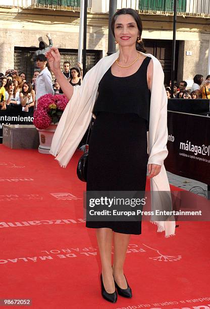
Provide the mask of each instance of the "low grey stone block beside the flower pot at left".
POLYGON ((39 135, 34 125, 3 125, 3 144, 11 149, 36 149, 39 135))

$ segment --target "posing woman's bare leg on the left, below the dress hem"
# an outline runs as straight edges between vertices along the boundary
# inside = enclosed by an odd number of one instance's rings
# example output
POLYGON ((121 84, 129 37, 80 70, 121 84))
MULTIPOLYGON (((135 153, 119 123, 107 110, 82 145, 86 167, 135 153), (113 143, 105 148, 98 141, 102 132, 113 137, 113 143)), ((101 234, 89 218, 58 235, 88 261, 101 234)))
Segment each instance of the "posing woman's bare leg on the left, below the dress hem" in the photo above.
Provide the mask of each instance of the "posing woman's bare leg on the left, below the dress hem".
POLYGON ((103 285, 108 293, 114 293, 115 284, 112 271, 113 230, 110 228, 98 228, 96 236, 100 252, 103 285))

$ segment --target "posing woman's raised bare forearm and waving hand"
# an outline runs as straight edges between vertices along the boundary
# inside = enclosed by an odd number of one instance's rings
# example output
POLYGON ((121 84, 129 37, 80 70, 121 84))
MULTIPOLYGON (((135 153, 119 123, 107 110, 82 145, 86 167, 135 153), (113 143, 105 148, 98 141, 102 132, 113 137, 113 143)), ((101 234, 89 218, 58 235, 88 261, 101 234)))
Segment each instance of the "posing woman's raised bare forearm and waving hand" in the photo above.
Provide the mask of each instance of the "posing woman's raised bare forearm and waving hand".
POLYGON ((50 48, 50 50, 45 55, 48 60, 50 69, 54 72, 65 96, 70 100, 73 95, 74 87, 69 83, 64 74, 61 72, 61 56, 58 48, 50 48))

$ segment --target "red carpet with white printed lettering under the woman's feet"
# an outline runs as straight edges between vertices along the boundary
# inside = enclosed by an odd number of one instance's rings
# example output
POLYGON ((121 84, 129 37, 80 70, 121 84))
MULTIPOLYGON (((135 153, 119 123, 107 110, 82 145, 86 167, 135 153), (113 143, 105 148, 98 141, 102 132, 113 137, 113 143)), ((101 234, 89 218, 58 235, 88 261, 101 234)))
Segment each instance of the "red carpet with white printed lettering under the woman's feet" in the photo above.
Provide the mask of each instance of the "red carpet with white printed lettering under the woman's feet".
POLYGON ((37 150, 0 153, 0 299, 32 299, 35 309, 210 308, 208 222, 180 222, 170 238, 143 222, 125 264, 133 298, 108 303, 95 230, 82 220, 81 152, 66 169, 37 150))

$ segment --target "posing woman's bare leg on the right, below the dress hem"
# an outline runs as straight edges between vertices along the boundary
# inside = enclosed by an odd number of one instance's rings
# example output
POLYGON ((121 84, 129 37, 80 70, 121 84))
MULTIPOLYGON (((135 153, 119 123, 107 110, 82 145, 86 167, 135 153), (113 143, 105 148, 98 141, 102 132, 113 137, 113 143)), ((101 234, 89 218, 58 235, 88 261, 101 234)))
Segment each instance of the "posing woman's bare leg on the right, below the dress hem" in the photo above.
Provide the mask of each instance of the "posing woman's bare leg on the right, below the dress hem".
POLYGON ((130 240, 130 234, 114 233, 114 263, 113 276, 121 289, 126 289, 127 283, 123 272, 125 256, 130 240))

